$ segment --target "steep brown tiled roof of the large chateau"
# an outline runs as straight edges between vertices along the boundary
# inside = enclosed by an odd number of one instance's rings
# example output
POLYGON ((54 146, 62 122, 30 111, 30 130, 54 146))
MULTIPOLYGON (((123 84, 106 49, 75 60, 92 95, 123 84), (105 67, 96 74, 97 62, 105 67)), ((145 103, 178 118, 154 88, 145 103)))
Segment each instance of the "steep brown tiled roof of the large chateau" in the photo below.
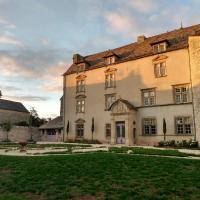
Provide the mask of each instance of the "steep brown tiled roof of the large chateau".
MULTIPOLYGON (((152 37, 147 37, 144 42, 135 42, 119 48, 111 49, 109 52, 113 52, 119 58, 116 62, 125 62, 129 60, 135 60, 146 56, 154 55, 152 44, 156 44, 162 41, 167 41, 167 51, 173 51, 188 47, 188 36, 200 35, 200 24, 176 29, 170 32, 162 33, 152 37)), ((84 57, 84 60, 88 63, 86 70, 105 67, 104 57, 107 56, 108 51, 88 55, 84 57)), ((76 73, 76 65, 72 64, 70 68, 63 74, 69 75, 76 73)))

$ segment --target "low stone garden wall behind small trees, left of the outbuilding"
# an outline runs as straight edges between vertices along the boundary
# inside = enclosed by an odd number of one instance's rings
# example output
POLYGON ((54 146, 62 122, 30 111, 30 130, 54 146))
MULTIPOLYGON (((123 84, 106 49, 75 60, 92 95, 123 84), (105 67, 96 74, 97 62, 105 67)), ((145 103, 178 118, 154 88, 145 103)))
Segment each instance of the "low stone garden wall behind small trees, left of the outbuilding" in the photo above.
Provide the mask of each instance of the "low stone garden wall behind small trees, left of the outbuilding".
MULTIPOLYGON (((14 126, 8 133, 8 139, 12 142, 22 142, 29 140, 31 135, 34 141, 40 140, 40 133, 38 128, 14 126)), ((6 137, 6 132, 0 128, 0 141, 6 140, 6 137)))

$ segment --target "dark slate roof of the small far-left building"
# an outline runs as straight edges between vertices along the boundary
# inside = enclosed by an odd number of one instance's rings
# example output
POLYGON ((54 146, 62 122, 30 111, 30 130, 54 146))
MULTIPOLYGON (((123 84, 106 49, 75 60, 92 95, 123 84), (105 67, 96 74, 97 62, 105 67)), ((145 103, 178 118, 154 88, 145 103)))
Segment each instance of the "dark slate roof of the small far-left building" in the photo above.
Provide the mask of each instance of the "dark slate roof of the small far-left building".
POLYGON ((0 109, 29 113, 22 103, 5 99, 0 99, 0 109))

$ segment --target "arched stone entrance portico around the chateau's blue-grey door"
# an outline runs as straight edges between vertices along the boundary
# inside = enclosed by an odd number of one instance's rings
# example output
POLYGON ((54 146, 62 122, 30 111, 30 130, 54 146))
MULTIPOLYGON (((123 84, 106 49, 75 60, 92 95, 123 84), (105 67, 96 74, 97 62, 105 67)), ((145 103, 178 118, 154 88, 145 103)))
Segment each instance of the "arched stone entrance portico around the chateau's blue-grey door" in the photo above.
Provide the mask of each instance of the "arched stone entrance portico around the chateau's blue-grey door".
POLYGON ((118 99, 111 110, 111 144, 133 145, 136 134, 136 108, 127 100, 118 99))

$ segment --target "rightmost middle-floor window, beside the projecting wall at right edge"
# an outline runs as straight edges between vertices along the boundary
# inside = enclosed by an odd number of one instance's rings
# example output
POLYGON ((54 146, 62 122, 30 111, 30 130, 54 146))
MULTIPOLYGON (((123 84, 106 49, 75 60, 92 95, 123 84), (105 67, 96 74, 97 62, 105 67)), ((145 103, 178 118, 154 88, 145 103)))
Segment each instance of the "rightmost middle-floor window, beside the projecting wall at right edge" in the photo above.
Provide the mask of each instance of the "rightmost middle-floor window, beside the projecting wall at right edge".
POLYGON ((189 101, 188 85, 174 86, 175 103, 187 103, 189 101))

